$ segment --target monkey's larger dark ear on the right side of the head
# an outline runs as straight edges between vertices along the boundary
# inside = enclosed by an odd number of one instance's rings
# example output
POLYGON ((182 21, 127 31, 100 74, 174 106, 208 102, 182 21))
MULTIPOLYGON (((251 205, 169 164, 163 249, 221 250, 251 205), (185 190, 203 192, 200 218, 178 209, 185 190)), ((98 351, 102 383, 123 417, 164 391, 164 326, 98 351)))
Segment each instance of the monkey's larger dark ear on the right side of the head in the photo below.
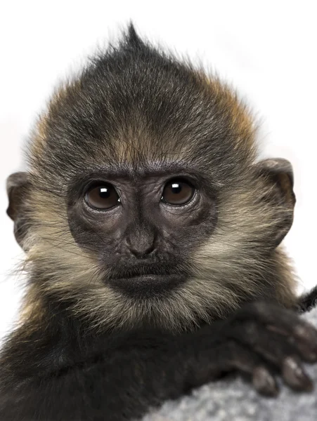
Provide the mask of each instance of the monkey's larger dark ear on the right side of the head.
POLYGON ((276 208, 276 232, 273 233, 274 246, 278 246, 292 227, 295 207, 293 192, 294 175, 292 164, 287 159, 264 159, 256 164, 259 177, 264 179, 266 189, 263 200, 276 208))

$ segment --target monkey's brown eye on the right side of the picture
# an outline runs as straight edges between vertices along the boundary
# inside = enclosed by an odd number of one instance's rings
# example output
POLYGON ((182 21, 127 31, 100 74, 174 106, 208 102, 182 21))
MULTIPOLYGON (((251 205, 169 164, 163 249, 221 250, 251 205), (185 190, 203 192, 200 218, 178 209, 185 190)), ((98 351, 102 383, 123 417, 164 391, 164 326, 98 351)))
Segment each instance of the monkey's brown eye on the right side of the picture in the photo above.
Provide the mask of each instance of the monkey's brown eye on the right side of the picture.
POLYGON ((189 181, 174 178, 167 182, 162 193, 162 201, 169 205, 180 206, 188 203, 195 194, 195 187, 189 181))

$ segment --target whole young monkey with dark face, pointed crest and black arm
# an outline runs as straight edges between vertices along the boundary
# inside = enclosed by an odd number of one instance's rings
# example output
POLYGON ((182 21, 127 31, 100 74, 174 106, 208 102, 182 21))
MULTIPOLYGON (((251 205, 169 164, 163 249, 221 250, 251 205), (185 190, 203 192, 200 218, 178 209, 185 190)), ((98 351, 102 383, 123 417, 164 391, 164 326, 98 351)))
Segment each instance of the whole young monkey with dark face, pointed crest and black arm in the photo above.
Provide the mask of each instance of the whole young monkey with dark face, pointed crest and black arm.
POLYGON ((53 95, 8 178, 28 287, 0 419, 131 420, 224 373, 311 390, 317 332, 280 243, 285 159, 219 79, 134 28, 53 95))

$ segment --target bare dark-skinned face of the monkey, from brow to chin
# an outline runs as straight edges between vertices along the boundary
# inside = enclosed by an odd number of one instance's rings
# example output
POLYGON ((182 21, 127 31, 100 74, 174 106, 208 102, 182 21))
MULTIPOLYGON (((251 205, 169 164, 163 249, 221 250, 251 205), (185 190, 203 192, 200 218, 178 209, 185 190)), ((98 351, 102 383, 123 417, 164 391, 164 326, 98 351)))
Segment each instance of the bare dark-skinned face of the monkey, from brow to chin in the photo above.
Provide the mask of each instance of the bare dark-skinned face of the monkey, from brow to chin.
POLYGON ((133 295, 186 281, 186 259, 216 225, 212 189, 189 169, 94 173, 72 185, 69 197, 75 241, 97 253, 106 283, 133 295))

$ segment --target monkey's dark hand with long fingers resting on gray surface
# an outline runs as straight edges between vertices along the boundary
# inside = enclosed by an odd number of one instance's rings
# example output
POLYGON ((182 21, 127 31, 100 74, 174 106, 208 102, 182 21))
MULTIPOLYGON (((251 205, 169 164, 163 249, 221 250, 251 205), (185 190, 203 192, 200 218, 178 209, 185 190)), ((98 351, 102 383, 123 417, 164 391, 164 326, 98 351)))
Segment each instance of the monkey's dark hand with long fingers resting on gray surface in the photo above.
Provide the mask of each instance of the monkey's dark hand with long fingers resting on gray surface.
MULTIPOLYGON (((207 341, 210 332, 204 328, 199 334, 207 341)), ((238 370, 252 378, 261 394, 278 394, 276 373, 292 389, 313 389, 302 361, 317 361, 317 330, 294 312, 267 302, 254 302, 224 324, 219 323, 212 335, 211 358, 206 356, 205 370, 196 373, 198 384, 207 380, 205 375, 216 378, 238 370)))

